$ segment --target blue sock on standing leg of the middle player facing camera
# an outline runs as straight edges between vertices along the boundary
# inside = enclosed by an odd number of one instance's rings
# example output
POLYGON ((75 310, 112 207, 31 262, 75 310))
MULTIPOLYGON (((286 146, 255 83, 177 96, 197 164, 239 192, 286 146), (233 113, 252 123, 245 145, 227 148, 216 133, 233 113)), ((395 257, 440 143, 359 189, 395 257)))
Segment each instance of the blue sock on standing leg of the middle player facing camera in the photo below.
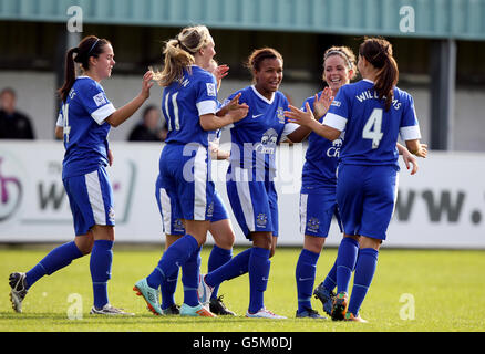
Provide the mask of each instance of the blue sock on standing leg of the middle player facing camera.
POLYGON ((265 306, 264 295, 268 285, 270 250, 254 247, 249 257, 249 312, 256 313, 265 306))

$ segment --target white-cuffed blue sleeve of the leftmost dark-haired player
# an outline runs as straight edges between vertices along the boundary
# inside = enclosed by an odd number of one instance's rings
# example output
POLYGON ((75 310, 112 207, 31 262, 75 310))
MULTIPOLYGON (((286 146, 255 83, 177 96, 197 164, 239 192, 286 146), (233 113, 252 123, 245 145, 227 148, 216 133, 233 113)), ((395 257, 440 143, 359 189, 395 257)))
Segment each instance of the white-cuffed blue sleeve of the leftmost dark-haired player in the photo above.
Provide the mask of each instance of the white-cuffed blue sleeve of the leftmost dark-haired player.
POLYGON ((84 108, 99 125, 116 111, 99 84, 87 81, 79 94, 84 108))

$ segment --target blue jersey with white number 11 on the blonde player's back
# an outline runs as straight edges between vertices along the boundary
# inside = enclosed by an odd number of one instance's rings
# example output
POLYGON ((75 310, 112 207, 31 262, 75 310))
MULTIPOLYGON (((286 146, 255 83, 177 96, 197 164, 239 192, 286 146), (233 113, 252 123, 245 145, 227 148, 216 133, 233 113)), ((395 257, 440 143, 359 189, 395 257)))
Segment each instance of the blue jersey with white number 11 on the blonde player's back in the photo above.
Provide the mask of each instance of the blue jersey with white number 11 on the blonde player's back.
POLYGON ((198 143, 208 146, 208 132, 199 123, 205 114, 216 114, 217 82, 214 75, 196 65, 184 70, 180 80, 165 87, 162 112, 167 122, 167 144, 198 143))

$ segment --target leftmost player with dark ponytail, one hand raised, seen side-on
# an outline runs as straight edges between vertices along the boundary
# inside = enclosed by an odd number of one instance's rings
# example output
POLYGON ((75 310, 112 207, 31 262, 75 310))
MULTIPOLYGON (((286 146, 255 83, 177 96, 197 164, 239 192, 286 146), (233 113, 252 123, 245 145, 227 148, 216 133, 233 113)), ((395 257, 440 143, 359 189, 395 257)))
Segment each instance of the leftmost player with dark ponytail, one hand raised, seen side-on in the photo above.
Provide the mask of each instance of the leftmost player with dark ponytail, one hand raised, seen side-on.
POLYGON ((113 191, 105 167, 112 163, 107 134, 130 118, 149 97, 152 74, 143 76, 141 93, 116 110, 107 100, 101 81, 111 76, 115 64, 111 43, 96 37, 84 38, 66 53, 65 82, 59 90, 63 105, 56 133, 63 133, 65 156, 62 181, 74 218, 75 239, 52 250, 27 273, 10 274, 13 310, 22 311, 27 291, 45 274, 51 275, 73 260, 91 253, 94 305, 91 314, 130 315, 107 300, 114 242, 113 191), (75 56, 74 56, 75 54, 75 56), (82 76, 76 77, 75 64, 82 76))

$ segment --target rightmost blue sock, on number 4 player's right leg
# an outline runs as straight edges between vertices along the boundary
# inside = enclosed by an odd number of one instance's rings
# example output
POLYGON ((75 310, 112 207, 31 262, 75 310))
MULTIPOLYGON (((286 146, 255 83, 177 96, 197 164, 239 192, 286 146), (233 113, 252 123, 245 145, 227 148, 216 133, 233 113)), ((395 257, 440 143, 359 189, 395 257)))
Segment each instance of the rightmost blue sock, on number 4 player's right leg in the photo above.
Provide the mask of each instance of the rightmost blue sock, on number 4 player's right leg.
POLYGON ((359 315, 360 306, 374 277, 378 266, 378 256, 379 251, 372 248, 364 248, 359 252, 355 275, 353 278, 352 295, 350 296, 348 310, 348 312, 353 313, 355 316, 359 315))

